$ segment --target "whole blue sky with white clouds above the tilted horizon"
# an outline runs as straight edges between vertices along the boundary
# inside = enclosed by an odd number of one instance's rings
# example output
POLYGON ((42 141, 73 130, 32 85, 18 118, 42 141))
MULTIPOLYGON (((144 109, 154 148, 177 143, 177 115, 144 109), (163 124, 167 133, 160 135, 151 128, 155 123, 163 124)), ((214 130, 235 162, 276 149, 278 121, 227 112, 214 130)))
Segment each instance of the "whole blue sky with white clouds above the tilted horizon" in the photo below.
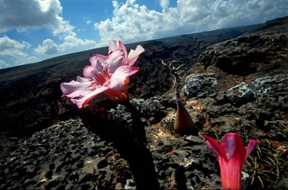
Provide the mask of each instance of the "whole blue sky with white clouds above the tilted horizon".
POLYGON ((0 0, 0 69, 108 46, 263 23, 287 0, 0 0))

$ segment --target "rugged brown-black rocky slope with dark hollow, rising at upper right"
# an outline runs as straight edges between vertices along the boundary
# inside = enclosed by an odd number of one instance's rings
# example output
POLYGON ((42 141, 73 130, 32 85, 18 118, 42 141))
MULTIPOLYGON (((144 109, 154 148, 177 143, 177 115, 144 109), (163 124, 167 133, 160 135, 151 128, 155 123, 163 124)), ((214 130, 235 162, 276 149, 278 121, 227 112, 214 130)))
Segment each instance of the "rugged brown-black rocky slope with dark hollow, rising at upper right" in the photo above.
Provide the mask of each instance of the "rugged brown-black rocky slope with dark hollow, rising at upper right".
POLYGON ((267 22, 258 27, 260 31, 254 29, 209 46, 198 62, 215 73, 218 90, 263 76, 287 74, 287 28, 288 17, 267 22))

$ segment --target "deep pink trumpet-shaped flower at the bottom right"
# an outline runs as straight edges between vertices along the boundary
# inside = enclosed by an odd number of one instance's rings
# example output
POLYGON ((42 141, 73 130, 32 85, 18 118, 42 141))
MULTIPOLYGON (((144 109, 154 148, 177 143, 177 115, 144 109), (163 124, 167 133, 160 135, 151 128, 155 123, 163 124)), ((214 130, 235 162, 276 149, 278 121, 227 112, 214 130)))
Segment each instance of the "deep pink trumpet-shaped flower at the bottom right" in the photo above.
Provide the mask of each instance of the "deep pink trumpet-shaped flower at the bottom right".
POLYGON ((259 141, 250 139, 248 147, 244 147, 239 133, 230 132, 223 136, 220 145, 215 139, 204 136, 206 146, 219 161, 223 189, 241 189, 242 167, 259 141))

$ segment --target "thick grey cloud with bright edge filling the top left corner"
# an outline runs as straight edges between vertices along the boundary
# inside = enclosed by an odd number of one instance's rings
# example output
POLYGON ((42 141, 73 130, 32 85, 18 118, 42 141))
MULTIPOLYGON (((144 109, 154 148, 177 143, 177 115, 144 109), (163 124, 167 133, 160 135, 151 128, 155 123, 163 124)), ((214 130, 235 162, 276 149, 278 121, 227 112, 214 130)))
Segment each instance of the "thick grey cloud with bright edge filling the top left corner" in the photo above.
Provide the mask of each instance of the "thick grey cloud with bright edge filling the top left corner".
POLYGON ((57 28, 63 24, 62 7, 58 0, 0 1, 0 32, 18 31, 29 27, 57 28))

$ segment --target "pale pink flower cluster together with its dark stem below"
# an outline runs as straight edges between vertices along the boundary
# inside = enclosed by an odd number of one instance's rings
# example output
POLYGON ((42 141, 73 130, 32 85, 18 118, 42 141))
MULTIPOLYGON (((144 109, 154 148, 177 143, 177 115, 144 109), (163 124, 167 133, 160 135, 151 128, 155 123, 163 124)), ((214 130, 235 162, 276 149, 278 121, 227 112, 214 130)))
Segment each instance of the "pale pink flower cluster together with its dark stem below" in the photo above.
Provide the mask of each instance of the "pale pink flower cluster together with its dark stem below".
MULTIPOLYGON (((85 106, 99 93, 106 94, 108 98, 128 108, 132 123, 127 131, 128 139, 123 139, 123 141, 133 143, 125 144, 123 154, 129 162, 137 189, 159 189, 153 158, 147 148, 149 146, 145 129, 136 108, 129 102, 127 90, 129 76, 139 70, 132 65, 144 51, 141 45, 137 45, 135 50, 127 54, 121 41, 111 40, 108 56, 93 55, 89 60, 91 65, 83 70, 84 77, 77 76, 76 81, 61 83, 61 90, 63 91, 62 97, 71 98, 78 108, 85 106)), ((113 131, 110 132, 113 133, 113 131)))

